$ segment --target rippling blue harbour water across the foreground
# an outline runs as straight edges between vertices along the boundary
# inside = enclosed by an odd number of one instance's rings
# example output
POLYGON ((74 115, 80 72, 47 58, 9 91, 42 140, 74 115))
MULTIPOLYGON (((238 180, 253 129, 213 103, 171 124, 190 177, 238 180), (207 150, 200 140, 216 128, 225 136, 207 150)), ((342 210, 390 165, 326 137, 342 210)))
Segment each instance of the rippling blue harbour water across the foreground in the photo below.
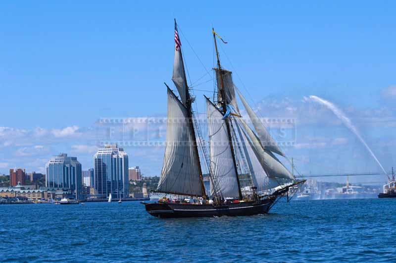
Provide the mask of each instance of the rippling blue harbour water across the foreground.
POLYGON ((3 262, 396 262, 396 199, 158 219, 139 202, 1 205, 3 262))

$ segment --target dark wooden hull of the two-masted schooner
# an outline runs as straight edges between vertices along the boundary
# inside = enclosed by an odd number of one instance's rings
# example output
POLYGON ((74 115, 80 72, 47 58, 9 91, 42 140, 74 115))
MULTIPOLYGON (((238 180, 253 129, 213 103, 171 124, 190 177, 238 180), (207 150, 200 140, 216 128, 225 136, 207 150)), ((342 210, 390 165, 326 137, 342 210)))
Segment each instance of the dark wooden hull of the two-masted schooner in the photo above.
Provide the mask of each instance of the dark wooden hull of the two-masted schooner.
POLYGON ((267 213, 276 197, 267 198, 255 202, 241 202, 239 204, 227 204, 224 206, 176 204, 176 203, 144 203, 146 211, 158 218, 178 217, 217 217, 217 216, 240 216, 267 213))

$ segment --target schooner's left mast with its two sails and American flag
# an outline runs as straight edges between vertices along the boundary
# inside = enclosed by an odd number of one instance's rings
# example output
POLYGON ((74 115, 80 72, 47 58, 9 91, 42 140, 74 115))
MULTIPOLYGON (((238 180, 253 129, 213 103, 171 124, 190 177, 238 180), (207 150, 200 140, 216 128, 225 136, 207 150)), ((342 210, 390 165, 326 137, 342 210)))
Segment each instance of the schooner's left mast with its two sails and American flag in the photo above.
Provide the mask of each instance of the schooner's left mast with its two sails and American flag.
MULTIPOLYGON (((207 199, 200 166, 194 112, 175 19, 172 81, 179 97, 167 86, 166 148, 157 192, 207 199)), ((200 141, 199 141, 200 142, 200 141)))

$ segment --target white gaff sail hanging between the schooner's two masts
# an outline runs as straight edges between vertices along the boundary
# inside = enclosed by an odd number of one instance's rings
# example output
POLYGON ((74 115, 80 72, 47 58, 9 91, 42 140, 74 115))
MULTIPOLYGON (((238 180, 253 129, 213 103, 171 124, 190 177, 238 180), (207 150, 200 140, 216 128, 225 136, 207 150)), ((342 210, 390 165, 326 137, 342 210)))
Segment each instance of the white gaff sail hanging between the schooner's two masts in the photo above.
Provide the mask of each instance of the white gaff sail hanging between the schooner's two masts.
MULTIPOLYGON (((226 123, 222 113, 206 98, 212 175, 224 197, 238 197, 239 189, 226 123)), ((213 196, 213 187, 211 195, 213 196)))

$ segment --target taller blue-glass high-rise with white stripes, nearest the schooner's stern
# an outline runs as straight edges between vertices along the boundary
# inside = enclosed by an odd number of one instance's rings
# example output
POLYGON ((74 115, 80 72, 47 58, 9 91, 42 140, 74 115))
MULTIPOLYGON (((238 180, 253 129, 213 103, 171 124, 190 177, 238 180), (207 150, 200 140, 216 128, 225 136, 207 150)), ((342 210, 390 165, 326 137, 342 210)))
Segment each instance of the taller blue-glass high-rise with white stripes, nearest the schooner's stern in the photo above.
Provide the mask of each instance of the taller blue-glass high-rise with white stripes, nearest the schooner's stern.
POLYGON ((128 155, 117 145, 107 145, 94 156, 94 188, 98 198, 128 198, 128 155))

